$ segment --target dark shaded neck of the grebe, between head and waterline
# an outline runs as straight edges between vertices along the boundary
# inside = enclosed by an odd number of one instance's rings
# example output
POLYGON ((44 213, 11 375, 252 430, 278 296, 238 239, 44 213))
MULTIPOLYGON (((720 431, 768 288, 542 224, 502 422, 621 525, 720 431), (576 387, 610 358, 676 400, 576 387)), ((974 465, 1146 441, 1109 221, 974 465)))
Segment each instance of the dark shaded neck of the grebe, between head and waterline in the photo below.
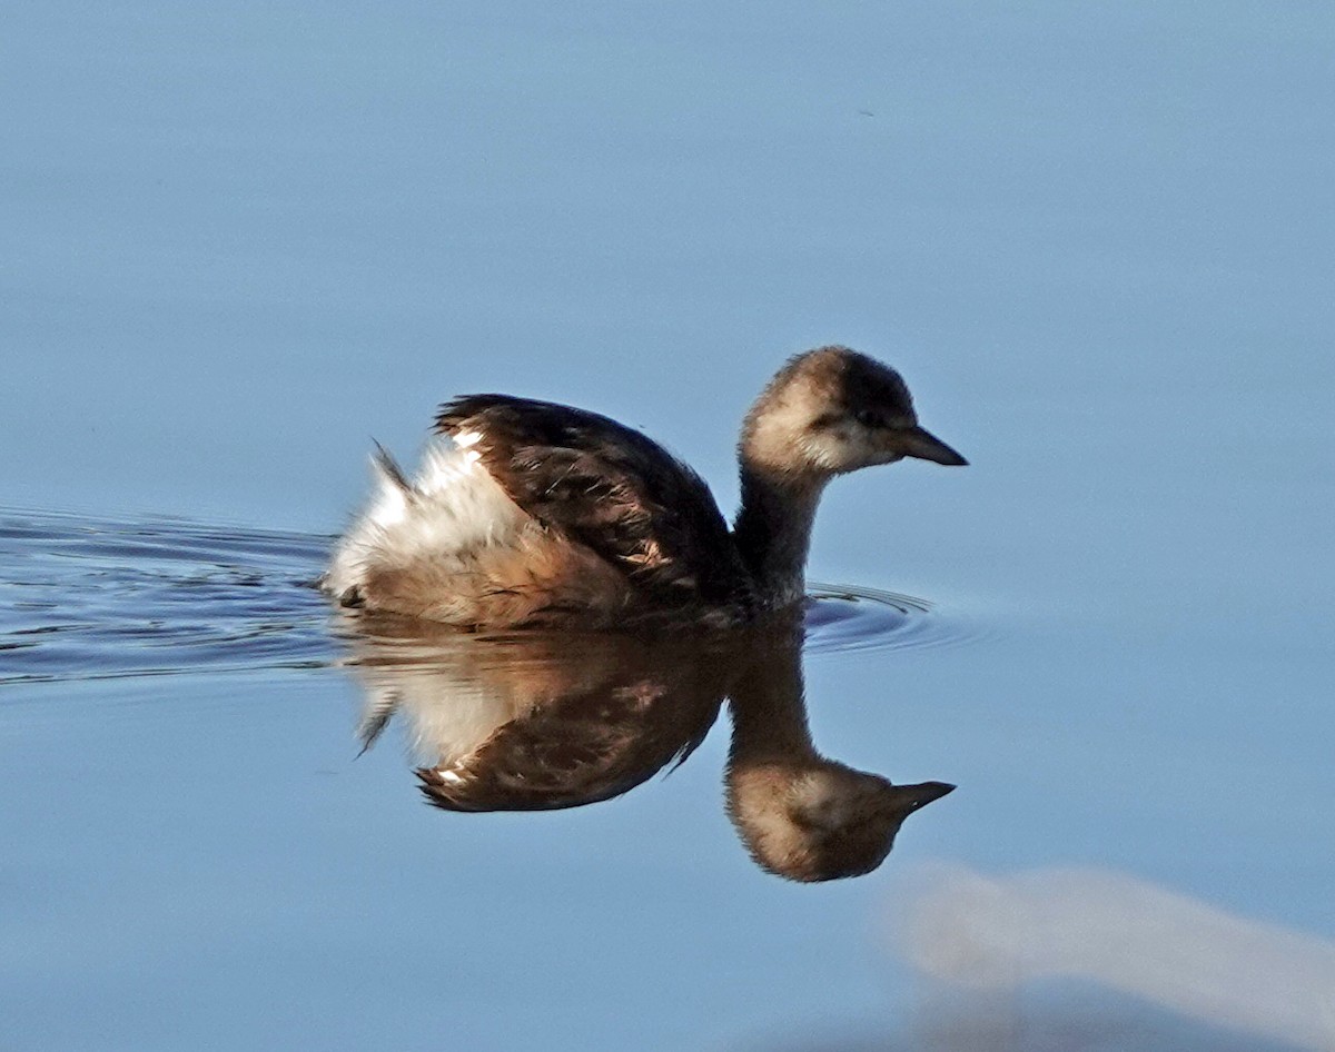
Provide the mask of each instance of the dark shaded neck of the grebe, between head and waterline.
POLYGON ((733 535, 766 606, 790 606, 806 594, 806 553, 824 489, 825 479, 742 461, 733 535))

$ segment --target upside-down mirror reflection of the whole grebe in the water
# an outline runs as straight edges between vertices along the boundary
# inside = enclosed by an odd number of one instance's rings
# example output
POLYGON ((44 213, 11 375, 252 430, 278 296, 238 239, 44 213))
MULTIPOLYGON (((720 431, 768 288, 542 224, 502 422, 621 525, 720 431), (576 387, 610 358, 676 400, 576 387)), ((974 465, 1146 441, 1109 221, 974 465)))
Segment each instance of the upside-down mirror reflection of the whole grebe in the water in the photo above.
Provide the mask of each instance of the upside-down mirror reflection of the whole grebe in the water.
POLYGON ((398 714, 422 792, 455 812, 575 808, 685 761, 729 701, 728 813, 752 858, 798 881, 876 869, 904 820, 955 786, 893 785, 821 756, 802 625, 716 635, 470 635, 347 615, 363 749, 398 714))

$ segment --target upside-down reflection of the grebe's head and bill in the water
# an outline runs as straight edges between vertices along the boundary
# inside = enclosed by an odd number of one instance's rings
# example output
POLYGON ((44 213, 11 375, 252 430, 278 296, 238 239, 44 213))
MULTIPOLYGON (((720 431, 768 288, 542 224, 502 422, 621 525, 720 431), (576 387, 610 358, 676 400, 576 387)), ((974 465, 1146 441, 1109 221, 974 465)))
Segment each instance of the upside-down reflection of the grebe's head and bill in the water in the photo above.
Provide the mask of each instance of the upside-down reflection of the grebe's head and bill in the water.
POLYGON ((904 820, 953 790, 947 782, 892 785, 829 760, 729 770, 728 810, 762 868, 800 881, 876 869, 904 820))

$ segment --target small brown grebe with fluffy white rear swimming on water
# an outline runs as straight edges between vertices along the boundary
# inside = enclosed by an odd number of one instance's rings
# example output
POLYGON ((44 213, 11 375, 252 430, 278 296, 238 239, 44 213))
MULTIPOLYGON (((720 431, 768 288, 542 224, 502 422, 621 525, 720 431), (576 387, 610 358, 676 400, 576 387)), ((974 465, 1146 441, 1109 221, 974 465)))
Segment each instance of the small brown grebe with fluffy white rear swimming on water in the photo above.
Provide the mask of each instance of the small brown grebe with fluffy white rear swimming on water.
POLYGON ((733 627, 801 602, 832 478, 968 463, 918 426, 898 372, 848 347, 789 359, 746 414, 732 531, 700 475, 595 413, 463 395, 435 434, 414 479, 378 449, 322 579, 342 605, 467 629, 733 627))

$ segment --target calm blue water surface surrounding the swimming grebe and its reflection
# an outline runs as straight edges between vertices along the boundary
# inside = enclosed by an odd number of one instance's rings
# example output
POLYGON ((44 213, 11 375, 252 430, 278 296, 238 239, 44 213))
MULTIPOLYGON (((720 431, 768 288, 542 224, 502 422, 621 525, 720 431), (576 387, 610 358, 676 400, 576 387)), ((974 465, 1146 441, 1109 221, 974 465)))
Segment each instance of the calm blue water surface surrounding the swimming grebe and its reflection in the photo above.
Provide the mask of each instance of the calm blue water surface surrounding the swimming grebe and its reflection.
MULTIPOLYGON (((976 1008, 901 961, 926 860, 1328 945, 1332 45, 1319 4, 9 12, 5 1041, 926 1048, 924 997, 976 1008), (561 814, 355 758, 307 582, 370 437, 569 401, 729 506, 749 399, 830 340, 973 462, 817 527, 813 577, 943 643, 833 618, 806 664, 822 752, 960 785, 881 869, 756 869, 717 730, 561 814)), ((1283 1037, 1008 996, 991 1047, 1283 1037)))

